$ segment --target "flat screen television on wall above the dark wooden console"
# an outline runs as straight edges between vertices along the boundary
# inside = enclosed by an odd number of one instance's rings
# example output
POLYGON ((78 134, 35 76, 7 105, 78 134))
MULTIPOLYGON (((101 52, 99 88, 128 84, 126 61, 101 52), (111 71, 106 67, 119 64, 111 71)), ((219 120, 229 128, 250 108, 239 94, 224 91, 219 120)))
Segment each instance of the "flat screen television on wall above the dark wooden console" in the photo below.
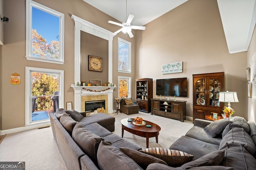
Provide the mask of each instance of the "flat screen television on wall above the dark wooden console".
POLYGON ((188 96, 187 78, 168 78, 156 80, 156 95, 160 96, 188 96))

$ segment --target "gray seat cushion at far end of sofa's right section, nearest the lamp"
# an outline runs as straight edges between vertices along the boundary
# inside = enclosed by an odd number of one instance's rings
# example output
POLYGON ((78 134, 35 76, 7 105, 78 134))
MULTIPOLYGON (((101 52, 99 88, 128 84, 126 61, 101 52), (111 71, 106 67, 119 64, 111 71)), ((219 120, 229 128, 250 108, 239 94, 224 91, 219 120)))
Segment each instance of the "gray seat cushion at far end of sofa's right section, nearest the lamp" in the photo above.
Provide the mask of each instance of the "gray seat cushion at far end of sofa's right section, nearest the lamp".
POLYGON ((212 143, 214 145, 220 145, 220 141, 222 138, 220 136, 213 138, 209 133, 207 133, 203 127, 193 126, 186 133, 186 136, 192 137, 194 139, 198 139, 200 141, 204 141, 207 143, 212 143))

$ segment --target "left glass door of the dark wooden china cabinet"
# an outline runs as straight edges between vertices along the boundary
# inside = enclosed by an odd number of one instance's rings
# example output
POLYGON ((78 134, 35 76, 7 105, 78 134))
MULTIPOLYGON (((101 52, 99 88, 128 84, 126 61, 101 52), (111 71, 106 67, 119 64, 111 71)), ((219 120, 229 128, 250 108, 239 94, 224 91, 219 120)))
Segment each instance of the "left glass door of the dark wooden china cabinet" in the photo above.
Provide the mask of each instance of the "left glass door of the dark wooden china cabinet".
POLYGON ((205 106, 206 105, 206 101, 205 101, 206 81, 205 81, 205 79, 202 78, 202 79, 197 80, 195 87, 196 87, 196 104, 205 106))

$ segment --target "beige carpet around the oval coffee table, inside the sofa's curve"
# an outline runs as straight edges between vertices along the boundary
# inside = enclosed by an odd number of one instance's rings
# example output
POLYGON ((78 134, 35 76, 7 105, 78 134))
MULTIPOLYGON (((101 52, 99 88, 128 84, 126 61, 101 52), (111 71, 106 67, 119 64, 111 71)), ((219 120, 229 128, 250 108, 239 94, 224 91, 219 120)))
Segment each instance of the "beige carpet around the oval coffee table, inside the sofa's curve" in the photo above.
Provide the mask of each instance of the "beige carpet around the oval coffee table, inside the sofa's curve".
MULTIPOLYGON (((184 122, 169 119, 162 116, 151 115, 150 113, 139 112, 138 114, 126 115, 124 113, 112 113, 110 114, 116 118, 115 131, 114 133, 118 136, 122 136, 122 125, 121 120, 124 118, 135 118, 142 117, 142 119, 156 123, 161 127, 160 134, 158 136, 158 143, 156 143, 156 138, 152 137, 149 139, 148 147, 162 147, 168 148, 182 135, 194 125, 192 121, 185 120, 184 122)), ((146 148, 146 138, 133 135, 127 131, 124 131, 124 139, 142 147, 146 148)))

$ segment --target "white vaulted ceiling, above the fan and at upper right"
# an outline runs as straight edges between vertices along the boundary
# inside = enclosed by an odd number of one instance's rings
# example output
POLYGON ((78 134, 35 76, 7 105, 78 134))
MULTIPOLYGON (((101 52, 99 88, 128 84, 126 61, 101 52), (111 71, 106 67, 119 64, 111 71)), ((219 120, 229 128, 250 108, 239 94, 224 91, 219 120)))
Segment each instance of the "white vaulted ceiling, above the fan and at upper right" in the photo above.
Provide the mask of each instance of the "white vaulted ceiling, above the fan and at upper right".
MULTIPOLYGON (((83 0, 120 23, 126 21, 126 0, 83 0)), ((131 25, 143 26, 188 0, 127 0, 131 25)), ((256 0, 217 0, 228 51, 247 51, 256 23, 256 0)))

